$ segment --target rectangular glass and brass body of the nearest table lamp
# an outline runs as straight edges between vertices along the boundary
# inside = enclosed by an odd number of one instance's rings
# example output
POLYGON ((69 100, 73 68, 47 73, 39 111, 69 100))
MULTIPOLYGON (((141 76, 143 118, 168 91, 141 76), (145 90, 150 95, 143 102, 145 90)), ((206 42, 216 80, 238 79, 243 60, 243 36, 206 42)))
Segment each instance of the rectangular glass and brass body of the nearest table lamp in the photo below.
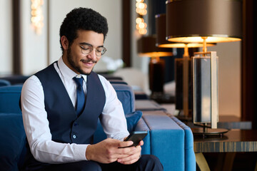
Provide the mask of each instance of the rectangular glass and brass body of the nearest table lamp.
POLYGON ((195 52, 193 60, 193 123, 218 122, 218 57, 215 51, 195 52))

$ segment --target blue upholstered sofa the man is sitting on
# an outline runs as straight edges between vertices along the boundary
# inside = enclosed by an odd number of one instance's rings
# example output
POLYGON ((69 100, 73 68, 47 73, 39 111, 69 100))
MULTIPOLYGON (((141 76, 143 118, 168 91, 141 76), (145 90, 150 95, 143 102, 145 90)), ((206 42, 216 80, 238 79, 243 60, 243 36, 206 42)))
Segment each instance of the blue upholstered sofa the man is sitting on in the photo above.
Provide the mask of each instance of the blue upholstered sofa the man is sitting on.
MULTIPOLYGON (((130 130, 148 130, 142 154, 159 157, 164 170, 196 170, 190 128, 164 111, 135 112, 131 87, 113 84, 124 107, 130 130)), ((26 152, 26 135, 19 110, 21 85, 0 87, 0 170, 19 170, 26 152)), ((106 137, 99 123, 94 142, 106 137)))

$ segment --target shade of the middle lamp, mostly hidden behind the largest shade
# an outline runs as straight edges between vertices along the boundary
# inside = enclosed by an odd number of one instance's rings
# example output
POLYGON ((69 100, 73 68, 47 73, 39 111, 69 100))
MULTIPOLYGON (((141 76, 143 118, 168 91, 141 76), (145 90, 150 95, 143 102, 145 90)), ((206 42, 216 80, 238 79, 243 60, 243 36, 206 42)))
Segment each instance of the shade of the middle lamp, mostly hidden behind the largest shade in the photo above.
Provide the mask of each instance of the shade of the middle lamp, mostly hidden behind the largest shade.
MULTIPOLYGON (((203 43, 177 43, 166 40, 166 14, 157 14, 156 16, 156 46, 159 48, 199 48, 203 43)), ((176 26, 176 25, 174 25, 176 26)), ((207 46, 215 46, 216 43, 208 43, 207 46)))

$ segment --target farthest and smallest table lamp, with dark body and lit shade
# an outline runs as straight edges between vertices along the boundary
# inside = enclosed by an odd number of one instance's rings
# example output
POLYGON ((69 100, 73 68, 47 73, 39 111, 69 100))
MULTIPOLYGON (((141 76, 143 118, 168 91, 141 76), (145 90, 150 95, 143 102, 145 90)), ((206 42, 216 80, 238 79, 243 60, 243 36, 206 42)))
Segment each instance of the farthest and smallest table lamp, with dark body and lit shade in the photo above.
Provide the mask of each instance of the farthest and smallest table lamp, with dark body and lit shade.
POLYGON ((137 41, 138 56, 150 57, 148 64, 149 87, 151 98, 154 100, 163 97, 165 61, 161 56, 173 56, 171 50, 156 47, 156 35, 142 36, 137 41))

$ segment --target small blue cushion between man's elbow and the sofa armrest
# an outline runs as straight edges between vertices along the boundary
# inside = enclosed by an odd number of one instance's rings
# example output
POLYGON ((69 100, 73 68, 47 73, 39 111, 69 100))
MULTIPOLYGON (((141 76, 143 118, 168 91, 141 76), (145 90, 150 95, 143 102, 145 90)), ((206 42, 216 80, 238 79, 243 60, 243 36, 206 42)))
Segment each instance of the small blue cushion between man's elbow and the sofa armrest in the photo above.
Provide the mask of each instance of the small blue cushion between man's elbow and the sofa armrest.
POLYGON ((125 115, 129 133, 135 130, 136 124, 138 123, 138 120, 140 120, 142 115, 143 113, 140 110, 136 110, 133 113, 128 113, 125 115))

